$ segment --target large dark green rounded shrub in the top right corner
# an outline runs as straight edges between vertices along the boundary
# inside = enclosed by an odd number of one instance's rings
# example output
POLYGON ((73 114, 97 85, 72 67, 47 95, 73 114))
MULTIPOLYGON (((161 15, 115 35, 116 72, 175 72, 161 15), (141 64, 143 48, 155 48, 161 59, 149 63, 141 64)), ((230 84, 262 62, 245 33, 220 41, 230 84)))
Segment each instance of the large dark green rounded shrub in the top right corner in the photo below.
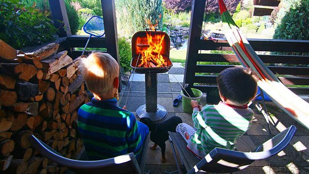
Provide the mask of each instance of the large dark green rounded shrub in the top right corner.
POLYGON ((300 4, 291 7, 281 24, 276 28, 274 39, 309 40, 309 1, 301 0, 300 4))

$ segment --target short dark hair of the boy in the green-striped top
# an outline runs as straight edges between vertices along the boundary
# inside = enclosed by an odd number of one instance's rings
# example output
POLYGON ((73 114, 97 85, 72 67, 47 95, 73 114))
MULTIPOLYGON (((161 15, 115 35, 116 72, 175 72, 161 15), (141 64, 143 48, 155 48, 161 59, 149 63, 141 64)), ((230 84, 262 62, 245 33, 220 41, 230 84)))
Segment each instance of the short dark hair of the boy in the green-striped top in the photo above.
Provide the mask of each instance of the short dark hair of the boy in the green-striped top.
POLYGON ((251 69, 232 67, 217 76, 217 84, 222 96, 238 105, 247 104, 257 94, 257 80, 251 69))

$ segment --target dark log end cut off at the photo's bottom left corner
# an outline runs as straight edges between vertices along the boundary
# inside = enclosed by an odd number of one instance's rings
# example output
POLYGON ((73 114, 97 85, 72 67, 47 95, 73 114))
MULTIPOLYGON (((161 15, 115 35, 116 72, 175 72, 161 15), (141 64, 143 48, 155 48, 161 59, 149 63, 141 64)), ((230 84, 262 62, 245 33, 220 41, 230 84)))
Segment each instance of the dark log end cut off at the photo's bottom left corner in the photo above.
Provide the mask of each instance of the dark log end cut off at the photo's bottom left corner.
POLYGON ((7 170, 3 171, 3 174, 26 174, 27 163, 24 159, 12 159, 10 166, 7 170))

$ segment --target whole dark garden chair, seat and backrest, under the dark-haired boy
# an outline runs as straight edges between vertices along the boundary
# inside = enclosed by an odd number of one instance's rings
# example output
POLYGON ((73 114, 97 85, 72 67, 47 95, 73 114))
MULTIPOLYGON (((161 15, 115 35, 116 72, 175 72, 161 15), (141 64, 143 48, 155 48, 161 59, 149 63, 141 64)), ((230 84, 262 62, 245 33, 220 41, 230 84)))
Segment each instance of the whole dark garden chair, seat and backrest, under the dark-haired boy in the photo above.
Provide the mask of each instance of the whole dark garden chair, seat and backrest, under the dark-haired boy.
MULTIPOLYGON (((255 160, 262 160, 276 155, 282 151, 292 140, 296 127, 291 125, 283 132, 277 134, 272 139, 262 145, 259 145, 251 152, 240 152, 236 150, 228 150, 224 148, 214 148, 205 158, 199 160, 186 148, 186 142, 180 133, 169 132, 169 141, 172 146, 174 158, 178 171, 171 172, 181 174, 180 165, 177 160, 175 147, 179 152, 180 159, 187 171, 187 174, 195 174, 200 172, 211 173, 232 173, 248 167, 255 160)), ((165 172, 168 173, 168 172, 165 172)))

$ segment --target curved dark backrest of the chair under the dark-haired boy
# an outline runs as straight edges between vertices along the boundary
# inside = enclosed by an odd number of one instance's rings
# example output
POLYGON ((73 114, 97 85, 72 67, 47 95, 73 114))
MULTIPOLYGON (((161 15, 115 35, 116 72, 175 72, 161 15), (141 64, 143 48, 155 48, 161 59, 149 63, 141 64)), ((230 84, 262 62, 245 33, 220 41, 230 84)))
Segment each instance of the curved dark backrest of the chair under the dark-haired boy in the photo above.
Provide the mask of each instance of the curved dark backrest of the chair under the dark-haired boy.
POLYGON ((248 167, 255 160, 266 159, 282 151, 292 140, 296 127, 291 125, 252 152, 214 148, 188 174, 203 170, 213 173, 230 173, 248 167))

